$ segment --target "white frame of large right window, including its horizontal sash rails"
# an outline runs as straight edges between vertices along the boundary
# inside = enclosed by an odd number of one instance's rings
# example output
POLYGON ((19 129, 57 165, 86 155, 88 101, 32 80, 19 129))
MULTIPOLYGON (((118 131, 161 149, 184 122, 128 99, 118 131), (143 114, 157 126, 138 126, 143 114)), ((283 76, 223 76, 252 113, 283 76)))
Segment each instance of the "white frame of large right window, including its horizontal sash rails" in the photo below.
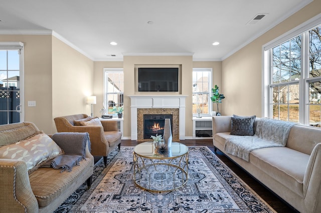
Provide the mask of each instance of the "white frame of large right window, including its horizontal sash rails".
MULTIPOLYGON (((321 24, 321 14, 318 14, 290 31, 278 36, 262 46, 262 115, 273 117, 272 106, 272 48, 278 46, 298 35, 301 35, 301 75, 299 80, 292 80, 285 83, 292 84, 295 81, 299 84, 299 122, 309 124, 309 82, 321 80, 321 76, 309 77, 309 45, 308 31, 321 24)), ((282 83, 280 83, 282 84, 282 83)))

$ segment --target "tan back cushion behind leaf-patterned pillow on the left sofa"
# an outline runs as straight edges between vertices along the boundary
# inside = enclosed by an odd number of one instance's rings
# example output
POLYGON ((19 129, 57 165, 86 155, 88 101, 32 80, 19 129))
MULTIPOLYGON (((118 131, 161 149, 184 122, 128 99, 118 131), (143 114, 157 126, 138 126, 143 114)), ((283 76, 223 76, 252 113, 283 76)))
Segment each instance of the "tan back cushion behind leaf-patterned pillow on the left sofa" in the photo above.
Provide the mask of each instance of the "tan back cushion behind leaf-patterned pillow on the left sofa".
POLYGON ((40 133, 32 125, 0 131, 0 146, 15 143, 40 133))

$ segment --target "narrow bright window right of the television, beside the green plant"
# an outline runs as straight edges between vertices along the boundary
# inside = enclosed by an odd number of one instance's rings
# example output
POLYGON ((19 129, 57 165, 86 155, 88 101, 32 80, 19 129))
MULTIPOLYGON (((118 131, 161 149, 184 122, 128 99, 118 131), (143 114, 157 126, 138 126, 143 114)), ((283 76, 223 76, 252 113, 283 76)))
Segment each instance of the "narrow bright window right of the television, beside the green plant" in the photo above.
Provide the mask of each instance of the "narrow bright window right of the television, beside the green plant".
POLYGON ((193 68, 193 116, 210 115, 212 68, 193 68))

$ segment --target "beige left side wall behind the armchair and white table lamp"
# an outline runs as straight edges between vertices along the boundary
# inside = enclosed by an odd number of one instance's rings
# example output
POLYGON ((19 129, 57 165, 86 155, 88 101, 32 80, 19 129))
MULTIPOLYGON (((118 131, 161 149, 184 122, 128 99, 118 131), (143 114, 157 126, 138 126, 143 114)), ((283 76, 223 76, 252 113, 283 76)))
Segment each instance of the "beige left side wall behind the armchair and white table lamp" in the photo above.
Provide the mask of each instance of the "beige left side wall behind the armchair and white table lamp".
MULTIPOLYGON (((86 97, 93 92, 94 62, 52 36, 52 117, 90 114, 86 97)), ((56 125, 53 122, 54 132, 56 125)))

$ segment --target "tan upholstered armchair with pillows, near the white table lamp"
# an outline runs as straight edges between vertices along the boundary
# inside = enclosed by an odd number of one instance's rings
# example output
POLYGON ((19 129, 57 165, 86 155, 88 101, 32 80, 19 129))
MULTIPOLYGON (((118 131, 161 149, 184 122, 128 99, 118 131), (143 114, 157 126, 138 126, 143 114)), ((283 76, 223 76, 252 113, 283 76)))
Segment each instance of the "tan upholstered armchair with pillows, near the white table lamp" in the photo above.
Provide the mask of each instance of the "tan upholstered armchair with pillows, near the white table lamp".
POLYGON ((105 165, 107 155, 118 145, 121 135, 115 120, 99 120, 87 114, 73 114, 54 118, 58 132, 88 132, 91 142, 91 154, 103 156, 105 165))

